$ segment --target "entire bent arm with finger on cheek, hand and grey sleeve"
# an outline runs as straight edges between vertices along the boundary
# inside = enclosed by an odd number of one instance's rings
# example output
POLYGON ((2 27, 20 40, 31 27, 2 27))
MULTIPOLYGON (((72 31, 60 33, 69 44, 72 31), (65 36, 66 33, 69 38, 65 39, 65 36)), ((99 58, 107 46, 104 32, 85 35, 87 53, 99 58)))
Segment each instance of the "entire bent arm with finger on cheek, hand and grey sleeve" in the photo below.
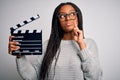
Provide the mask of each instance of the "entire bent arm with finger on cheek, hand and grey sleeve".
POLYGON ((98 60, 96 43, 92 39, 84 39, 83 31, 78 29, 77 24, 75 24, 72 35, 79 46, 78 55, 81 58, 84 79, 101 80, 102 70, 98 60))

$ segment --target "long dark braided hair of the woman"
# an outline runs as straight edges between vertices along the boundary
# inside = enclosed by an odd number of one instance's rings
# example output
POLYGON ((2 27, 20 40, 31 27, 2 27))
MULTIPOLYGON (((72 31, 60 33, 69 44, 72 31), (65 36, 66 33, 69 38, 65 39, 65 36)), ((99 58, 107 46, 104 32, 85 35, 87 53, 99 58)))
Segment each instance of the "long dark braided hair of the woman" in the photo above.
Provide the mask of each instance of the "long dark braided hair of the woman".
POLYGON ((71 2, 61 3, 55 8, 55 11, 53 13, 53 18, 52 18, 51 34, 50 34, 47 49, 46 49, 46 52, 42 61, 41 69, 40 69, 40 74, 39 74, 40 80, 45 80, 46 78, 48 78, 49 68, 60 47, 61 39, 63 38, 64 31, 61 28, 61 25, 58 19, 58 14, 59 14, 59 10, 64 5, 71 5, 76 10, 76 12, 78 12, 77 14, 78 28, 80 30, 83 30, 82 13, 75 4, 71 2))

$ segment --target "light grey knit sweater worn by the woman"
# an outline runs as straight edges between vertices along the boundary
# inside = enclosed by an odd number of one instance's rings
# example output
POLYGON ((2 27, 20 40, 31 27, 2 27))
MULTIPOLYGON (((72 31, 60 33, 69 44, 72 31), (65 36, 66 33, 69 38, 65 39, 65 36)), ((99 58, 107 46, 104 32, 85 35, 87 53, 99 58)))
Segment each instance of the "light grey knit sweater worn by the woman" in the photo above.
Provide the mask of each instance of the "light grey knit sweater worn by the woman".
MULTIPOLYGON (((62 40, 56 66, 54 58, 50 67, 49 80, 101 80, 102 70, 98 60, 96 43, 92 39, 85 39, 87 48, 80 50, 74 40, 62 40), (55 67, 54 67, 55 66, 55 67)), ((26 56, 16 59, 17 70, 22 79, 38 80, 47 42, 43 46, 43 54, 37 55, 34 64, 26 56)))

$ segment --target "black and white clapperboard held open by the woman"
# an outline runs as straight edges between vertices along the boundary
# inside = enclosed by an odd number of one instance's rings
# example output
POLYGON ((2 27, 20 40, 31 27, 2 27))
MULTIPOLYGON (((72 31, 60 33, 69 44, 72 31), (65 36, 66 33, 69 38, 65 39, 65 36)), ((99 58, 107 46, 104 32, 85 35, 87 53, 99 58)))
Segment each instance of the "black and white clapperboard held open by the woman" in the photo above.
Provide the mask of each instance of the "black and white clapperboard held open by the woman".
POLYGON ((39 19, 40 16, 31 17, 30 20, 23 21, 11 27, 11 35, 15 36, 12 40, 19 42, 19 50, 13 51, 13 55, 41 55, 42 54, 42 30, 16 30, 32 21, 39 19))

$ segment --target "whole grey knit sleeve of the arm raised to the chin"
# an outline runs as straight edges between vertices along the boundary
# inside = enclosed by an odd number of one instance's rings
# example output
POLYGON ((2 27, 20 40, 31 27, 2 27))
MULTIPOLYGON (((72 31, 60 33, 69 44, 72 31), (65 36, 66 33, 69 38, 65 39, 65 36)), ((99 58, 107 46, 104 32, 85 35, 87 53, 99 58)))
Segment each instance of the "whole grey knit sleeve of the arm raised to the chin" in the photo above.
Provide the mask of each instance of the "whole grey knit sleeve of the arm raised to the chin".
POLYGON ((98 49, 92 39, 86 40, 86 48, 78 55, 81 58, 82 70, 85 80, 101 80, 102 70, 98 59, 98 49))

